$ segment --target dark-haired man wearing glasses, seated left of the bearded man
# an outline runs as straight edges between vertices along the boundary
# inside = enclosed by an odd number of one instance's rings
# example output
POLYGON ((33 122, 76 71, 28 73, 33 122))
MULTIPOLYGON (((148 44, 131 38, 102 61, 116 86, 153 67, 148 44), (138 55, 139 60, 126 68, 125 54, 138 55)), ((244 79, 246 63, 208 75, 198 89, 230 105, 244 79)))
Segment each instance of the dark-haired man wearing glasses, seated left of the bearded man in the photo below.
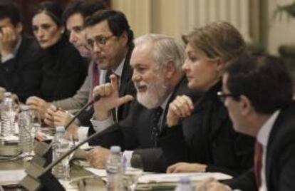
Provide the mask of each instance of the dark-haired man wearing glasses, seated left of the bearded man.
MULTIPOLYGON (((133 31, 130 29, 125 15, 120 11, 101 10, 86 19, 86 41, 92 52, 95 65, 100 70, 98 81, 100 84, 110 82, 110 78, 118 83, 118 95, 134 95, 135 88, 131 81, 130 55, 133 51, 133 31)), ((95 89, 93 90, 95 93, 95 89)), ((132 96, 126 96, 132 100, 132 96)), ((80 125, 90 126, 93 117, 95 127, 108 126, 115 121, 122 120, 128 114, 130 104, 126 103, 112 110, 111 115, 94 115, 93 109, 79 118, 80 125), (97 124, 98 123, 98 124, 97 124)), ((58 117, 56 117, 58 118, 58 117)), ((56 119, 54 118, 54 119, 56 119)), ((68 120, 67 120, 68 121, 68 120)), ((67 122, 66 121, 66 122, 67 122)), ((65 120, 61 120, 66 125, 65 120)), ((68 131, 75 138, 83 140, 88 134, 95 133, 98 128, 80 127, 71 125, 68 131)))

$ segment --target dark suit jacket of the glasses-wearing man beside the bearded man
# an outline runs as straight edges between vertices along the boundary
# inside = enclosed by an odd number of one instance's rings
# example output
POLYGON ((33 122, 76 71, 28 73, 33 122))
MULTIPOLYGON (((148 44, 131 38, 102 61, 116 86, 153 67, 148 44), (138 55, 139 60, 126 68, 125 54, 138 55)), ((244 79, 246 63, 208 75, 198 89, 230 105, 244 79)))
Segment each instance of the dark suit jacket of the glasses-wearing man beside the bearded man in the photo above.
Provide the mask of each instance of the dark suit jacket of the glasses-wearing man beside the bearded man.
MULTIPOLYGON (((133 75, 133 70, 130 67, 130 56, 131 56, 132 51, 133 51, 133 47, 130 48, 130 50, 128 51, 128 53, 125 57, 122 76, 120 77, 120 87, 119 87, 119 96, 120 97, 125 96, 125 95, 135 96, 135 94, 136 94, 136 90, 135 90, 133 81, 131 80, 132 75, 133 75)), ((118 121, 126 118, 129 110, 130 110, 130 103, 126 103, 124 105, 121 105, 118 108, 118 113, 117 113, 118 121)), ((92 135, 93 133, 95 133, 95 130, 93 129, 92 124, 90 124, 90 118, 93 117, 93 113, 94 113, 94 110, 92 107, 92 108, 90 108, 90 110, 82 113, 82 115, 78 118, 81 125, 90 126, 90 129, 88 131, 88 135, 92 135)))

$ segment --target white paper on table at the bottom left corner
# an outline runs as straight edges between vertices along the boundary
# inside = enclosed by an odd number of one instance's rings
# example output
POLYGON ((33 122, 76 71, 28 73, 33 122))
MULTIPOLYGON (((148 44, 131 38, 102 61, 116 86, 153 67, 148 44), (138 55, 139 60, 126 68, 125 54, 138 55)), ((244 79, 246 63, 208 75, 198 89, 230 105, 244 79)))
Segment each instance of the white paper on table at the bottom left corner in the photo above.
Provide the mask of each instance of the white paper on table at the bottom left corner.
POLYGON ((24 170, 0 170, 0 185, 16 185, 26 176, 24 170))

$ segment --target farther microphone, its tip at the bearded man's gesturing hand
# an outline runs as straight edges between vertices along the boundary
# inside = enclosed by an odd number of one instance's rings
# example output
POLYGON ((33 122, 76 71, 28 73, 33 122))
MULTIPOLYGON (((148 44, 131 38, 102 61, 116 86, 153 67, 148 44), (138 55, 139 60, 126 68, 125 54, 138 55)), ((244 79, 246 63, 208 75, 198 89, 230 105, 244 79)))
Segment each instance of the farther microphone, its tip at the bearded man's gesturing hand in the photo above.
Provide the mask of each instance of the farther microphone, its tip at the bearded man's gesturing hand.
MULTIPOLYGON (((78 118, 78 116, 81 115, 81 113, 84 110, 86 110, 86 108, 88 108, 90 105, 93 105, 93 103, 100 100, 100 98, 101 96, 96 94, 92 100, 90 100, 86 105, 84 105, 83 108, 81 108, 81 110, 79 110, 79 112, 73 116, 73 118, 68 122, 68 124, 66 124, 65 129, 67 129, 73 123, 73 121, 76 120, 76 118, 78 118)), ((48 160, 51 161, 52 158, 51 152, 49 152, 51 150, 52 144, 53 142, 51 142, 49 145, 44 141, 38 142, 34 147, 34 152, 36 155, 32 158, 31 162, 41 167, 47 165, 48 160)))

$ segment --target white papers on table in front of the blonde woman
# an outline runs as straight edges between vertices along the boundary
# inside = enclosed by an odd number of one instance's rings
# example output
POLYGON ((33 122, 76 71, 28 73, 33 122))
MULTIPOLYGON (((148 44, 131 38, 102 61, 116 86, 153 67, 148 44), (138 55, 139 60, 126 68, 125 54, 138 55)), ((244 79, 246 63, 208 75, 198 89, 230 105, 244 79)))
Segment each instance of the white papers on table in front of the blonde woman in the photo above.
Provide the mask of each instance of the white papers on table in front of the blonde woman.
POLYGON ((214 177, 217 180, 231 179, 232 176, 220 172, 196 172, 196 173, 176 173, 176 174, 152 174, 143 175, 139 178, 140 183, 159 183, 159 182, 178 182, 180 177, 190 177, 191 181, 206 180, 209 177, 214 177))

